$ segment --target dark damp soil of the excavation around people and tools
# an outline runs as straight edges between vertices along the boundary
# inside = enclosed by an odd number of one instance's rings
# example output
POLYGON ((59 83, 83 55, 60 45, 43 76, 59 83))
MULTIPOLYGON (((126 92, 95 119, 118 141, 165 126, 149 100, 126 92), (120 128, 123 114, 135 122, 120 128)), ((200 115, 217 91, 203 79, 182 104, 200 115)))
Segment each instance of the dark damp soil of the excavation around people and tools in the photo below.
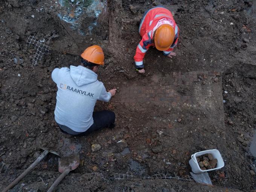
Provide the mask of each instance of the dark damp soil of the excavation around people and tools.
MULTIPOLYGON (((58 1, 0 0, 0 189, 44 147, 80 155, 79 167, 57 191, 256 190, 256 157, 250 152, 256 128, 256 3, 97 2, 107 6, 104 14, 95 20, 80 15, 84 23, 76 26, 97 25, 77 35, 78 28, 58 17, 64 9, 58 1), (149 49, 146 73, 140 75, 133 61, 139 22, 155 5, 170 9, 180 28, 177 56, 149 49), (50 47, 34 68, 36 47, 26 46, 30 35, 50 47), (79 65, 79 54, 93 44, 105 53, 99 80, 117 88, 95 111, 114 111, 116 126, 68 137, 54 120, 57 88, 51 73, 79 65), (101 147, 92 151, 93 144, 101 147), (207 149, 218 149, 225 163, 209 172, 214 186, 197 184, 189 174, 191 155, 207 149)), ((59 175, 58 157, 49 153, 12 191, 46 191, 59 175)))

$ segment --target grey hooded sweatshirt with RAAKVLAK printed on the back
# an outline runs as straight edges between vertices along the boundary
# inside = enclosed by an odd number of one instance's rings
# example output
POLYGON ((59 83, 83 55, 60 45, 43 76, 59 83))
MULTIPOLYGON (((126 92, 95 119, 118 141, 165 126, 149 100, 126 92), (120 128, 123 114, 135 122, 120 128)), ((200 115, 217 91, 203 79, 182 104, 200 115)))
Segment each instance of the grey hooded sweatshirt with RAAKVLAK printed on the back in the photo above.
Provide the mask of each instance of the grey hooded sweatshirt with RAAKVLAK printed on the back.
POLYGON ((108 102, 106 91, 98 75, 82 66, 54 69, 52 80, 57 84, 55 120, 76 132, 84 132, 93 124, 93 109, 97 100, 108 102))

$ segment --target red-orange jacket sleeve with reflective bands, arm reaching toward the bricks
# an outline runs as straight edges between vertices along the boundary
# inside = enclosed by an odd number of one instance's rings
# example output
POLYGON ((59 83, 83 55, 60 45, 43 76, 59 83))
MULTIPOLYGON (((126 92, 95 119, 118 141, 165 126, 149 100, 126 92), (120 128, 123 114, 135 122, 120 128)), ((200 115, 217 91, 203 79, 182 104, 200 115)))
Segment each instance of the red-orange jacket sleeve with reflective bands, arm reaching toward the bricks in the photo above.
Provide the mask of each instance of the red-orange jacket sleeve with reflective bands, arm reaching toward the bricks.
POLYGON ((151 46, 152 42, 151 42, 151 32, 146 33, 145 35, 143 35, 142 40, 140 41, 140 43, 138 44, 137 48, 136 48, 136 53, 134 56, 134 61, 135 61, 135 65, 136 68, 143 68, 143 58, 147 52, 147 50, 149 49, 149 47, 151 46))

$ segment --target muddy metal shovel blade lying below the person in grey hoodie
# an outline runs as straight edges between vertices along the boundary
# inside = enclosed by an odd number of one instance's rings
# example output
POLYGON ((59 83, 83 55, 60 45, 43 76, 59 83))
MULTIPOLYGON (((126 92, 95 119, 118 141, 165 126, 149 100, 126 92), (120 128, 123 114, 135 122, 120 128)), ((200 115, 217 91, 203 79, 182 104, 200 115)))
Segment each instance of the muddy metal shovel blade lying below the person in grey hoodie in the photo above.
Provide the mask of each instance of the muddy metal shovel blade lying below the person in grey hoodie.
POLYGON ((73 154, 67 157, 59 158, 59 172, 63 173, 65 170, 70 171, 76 169, 79 166, 80 158, 79 154, 73 154))

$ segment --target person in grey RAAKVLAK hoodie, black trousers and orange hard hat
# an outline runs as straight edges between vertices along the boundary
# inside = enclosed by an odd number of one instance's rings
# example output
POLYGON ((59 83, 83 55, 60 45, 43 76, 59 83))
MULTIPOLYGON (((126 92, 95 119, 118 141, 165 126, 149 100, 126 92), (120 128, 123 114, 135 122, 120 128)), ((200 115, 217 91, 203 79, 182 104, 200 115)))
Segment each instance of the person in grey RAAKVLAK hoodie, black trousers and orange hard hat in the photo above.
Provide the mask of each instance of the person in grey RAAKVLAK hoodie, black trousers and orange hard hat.
POLYGON ((52 79, 57 84, 55 120, 63 133, 84 136, 104 127, 113 127, 112 111, 93 112, 97 100, 108 102, 116 89, 106 91, 98 81, 98 71, 104 65, 104 53, 100 46, 91 46, 81 55, 78 67, 54 69, 52 79))

